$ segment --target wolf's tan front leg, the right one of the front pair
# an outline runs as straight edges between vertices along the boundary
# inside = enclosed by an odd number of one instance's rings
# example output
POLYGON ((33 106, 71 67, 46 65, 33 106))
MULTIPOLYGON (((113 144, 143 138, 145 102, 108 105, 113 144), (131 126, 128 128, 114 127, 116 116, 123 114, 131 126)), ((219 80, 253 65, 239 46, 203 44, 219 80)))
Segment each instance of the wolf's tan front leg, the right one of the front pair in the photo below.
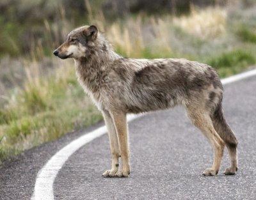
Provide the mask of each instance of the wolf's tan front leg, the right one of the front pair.
POLYGON ((111 113, 111 116, 116 127, 116 134, 118 135, 118 143, 122 158, 122 170, 118 171, 116 176, 128 177, 130 174, 130 165, 126 114, 123 112, 115 112, 111 113))

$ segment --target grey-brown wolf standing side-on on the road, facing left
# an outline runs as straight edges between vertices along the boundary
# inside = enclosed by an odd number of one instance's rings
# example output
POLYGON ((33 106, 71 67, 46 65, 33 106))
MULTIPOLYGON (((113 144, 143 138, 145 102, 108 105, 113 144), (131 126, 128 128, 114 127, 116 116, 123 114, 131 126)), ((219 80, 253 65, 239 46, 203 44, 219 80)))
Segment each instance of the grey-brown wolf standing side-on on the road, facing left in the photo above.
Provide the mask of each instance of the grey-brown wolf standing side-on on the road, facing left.
POLYGON ((236 173, 237 139, 223 116, 223 86, 211 66, 187 59, 124 58, 114 52, 96 26, 74 29, 53 53, 61 59, 74 58, 79 83, 104 116, 112 165, 102 176, 130 174, 127 113, 175 105, 186 108, 193 125, 214 150, 213 164, 204 176, 218 174, 225 146, 231 165, 224 174, 236 173))

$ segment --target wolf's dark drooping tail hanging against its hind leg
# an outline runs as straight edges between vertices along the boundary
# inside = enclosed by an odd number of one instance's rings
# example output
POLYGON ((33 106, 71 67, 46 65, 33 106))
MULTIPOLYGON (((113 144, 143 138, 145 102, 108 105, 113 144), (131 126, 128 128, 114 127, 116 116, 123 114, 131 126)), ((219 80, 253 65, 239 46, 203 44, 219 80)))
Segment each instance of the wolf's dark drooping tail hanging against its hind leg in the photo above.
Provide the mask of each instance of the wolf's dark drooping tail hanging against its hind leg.
POLYGON ((236 149, 237 139, 223 116, 221 101, 216 107, 216 110, 212 113, 211 119, 216 132, 218 132, 227 147, 230 149, 236 149))

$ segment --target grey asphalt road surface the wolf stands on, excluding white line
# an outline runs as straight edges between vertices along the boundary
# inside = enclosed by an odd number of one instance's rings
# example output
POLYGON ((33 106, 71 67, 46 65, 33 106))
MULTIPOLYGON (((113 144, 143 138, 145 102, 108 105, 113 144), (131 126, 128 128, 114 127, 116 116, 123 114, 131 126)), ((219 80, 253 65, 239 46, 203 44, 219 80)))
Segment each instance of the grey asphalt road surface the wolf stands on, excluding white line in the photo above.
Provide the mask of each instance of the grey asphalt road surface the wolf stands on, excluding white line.
MULTIPOLYGON (((225 176, 227 150, 218 176, 211 146, 181 107, 148 113, 129 123, 131 175, 103 178, 110 167, 107 135, 86 144, 65 162, 54 181, 54 199, 256 199, 256 77, 227 84, 224 109, 239 141, 239 169, 225 176)), ((0 168, 0 199, 30 199, 36 174, 56 151, 79 135, 65 135, 26 151, 0 168)))

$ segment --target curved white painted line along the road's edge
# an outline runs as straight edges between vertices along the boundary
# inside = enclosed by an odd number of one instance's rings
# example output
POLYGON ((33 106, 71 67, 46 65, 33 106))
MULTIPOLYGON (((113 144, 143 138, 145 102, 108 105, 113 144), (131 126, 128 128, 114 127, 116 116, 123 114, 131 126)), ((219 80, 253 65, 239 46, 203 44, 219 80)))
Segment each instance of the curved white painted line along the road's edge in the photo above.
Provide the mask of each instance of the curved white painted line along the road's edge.
MULTIPOLYGON (((248 72, 244 72, 244 73, 239 73, 237 75, 228 77, 226 79, 222 79, 221 82, 222 84, 229 84, 231 82, 236 82, 242 79, 246 79, 248 77, 252 77, 253 75, 256 75, 256 69, 248 72)), ((133 119, 136 119, 140 116, 141 114, 129 115, 128 121, 132 121, 133 119)), ((81 137, 75 139, 74 141, 67 144, 67 146, 63 147, 60 151, 55 153, 51 157, 51 159, 44 165, 44 167, 38 172, 36 177, 34 194, 31 197, 31 199, 53 200, 54 199, 54 194, 53 194, 54 180, 58 174, 58 171, 60 171, 61 167, 68 160, 70 155, 76 152, 84 144, 87 144, 88 142, 93 141, 93 139, 96 139, 97 137, 100 137, 101 135, 106 134, 106 132, 107 130, 105 126, 97 128, 96 130, 93 130, 92 132, 89 132, 88 134, 84 134, 81 137)))

